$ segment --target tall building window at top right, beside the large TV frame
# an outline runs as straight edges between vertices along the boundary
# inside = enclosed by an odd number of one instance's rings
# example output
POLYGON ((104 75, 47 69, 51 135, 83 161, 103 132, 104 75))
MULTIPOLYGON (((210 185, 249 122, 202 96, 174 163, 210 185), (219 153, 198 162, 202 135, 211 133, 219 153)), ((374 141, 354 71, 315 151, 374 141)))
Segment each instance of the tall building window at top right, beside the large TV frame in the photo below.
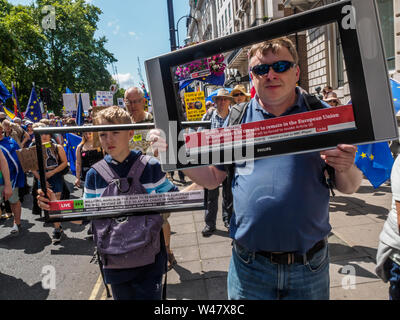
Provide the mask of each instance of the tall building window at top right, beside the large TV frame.
POLYGON ((395 45, 394 45, 394 14, 393 0, 377 0, 379 19, 383 36, 383 46, 386 53, 386 61, 389 70, 395 69, 395 45))

